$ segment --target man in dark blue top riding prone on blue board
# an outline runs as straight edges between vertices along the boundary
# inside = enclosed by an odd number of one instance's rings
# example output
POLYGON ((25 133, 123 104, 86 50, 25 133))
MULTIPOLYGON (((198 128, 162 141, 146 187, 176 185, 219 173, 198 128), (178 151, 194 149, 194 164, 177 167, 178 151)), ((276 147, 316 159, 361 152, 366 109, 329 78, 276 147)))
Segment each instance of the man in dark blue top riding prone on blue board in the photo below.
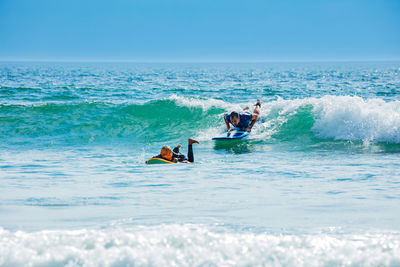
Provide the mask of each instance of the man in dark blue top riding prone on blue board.
MULTIPOLYGON (((251 128, 254 126, 254 124, 258 119, 258 116, 260 115, 260 108, 261 108, 260 99, 257 99, 257 103, 255 106, 256 107, 253 111, 253 114, 251 114, 248 111, 240 113, 232 111, 231 114, 225 114, 224 120, 228 132, 233 130, 234 128, 241 131, 251 131, 251 128), (231 129, 230 124, 232 124, 234 128, 231 129)), ((245 110, 247 109, 248 108, 246 108, 245 110)))

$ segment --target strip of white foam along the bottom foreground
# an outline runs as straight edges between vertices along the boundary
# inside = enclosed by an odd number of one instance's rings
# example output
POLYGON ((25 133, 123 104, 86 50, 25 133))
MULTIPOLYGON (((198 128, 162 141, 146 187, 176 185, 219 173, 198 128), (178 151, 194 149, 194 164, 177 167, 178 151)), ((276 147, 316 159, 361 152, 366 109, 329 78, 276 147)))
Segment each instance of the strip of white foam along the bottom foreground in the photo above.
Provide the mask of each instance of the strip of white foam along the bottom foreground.
POLYGON ((201 225, 10 232, 1 266, 398 266, 400 233, 235 233, 201 225))

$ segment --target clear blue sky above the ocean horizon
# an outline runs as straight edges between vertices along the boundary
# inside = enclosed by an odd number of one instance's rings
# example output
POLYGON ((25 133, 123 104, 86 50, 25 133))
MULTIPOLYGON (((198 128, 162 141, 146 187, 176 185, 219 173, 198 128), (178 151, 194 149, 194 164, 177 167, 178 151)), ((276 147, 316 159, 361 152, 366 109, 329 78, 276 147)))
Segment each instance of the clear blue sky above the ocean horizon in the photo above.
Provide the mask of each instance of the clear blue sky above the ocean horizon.
POLYGON ((399 60, 400 0, 0 0, 0 60, 399 60))

